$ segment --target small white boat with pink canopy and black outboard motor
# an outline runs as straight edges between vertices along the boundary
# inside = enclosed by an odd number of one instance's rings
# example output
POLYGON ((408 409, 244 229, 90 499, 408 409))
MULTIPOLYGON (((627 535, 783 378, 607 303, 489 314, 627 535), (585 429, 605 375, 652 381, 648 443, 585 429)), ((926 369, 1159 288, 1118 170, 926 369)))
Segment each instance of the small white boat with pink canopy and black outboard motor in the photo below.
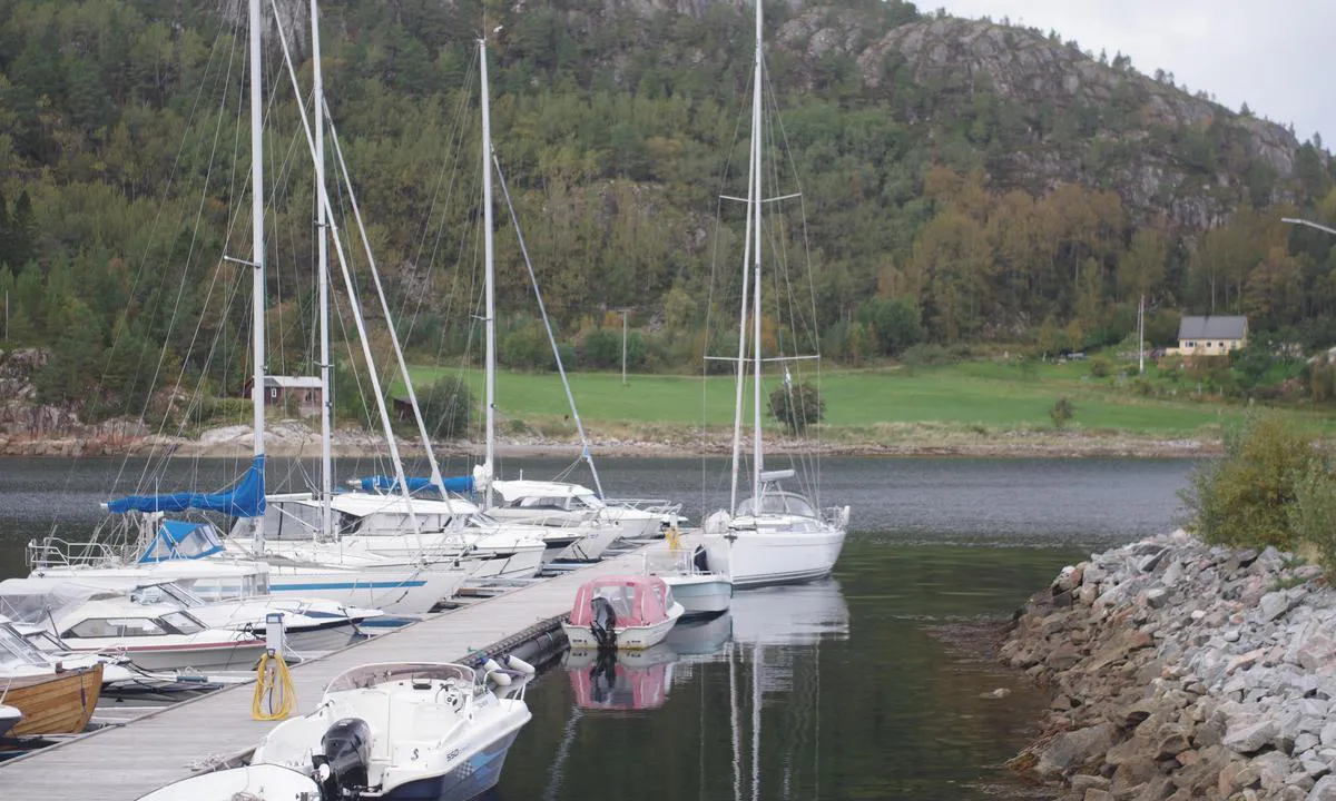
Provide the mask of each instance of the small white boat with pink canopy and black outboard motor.
POLYGON ((637 650, 663 642, 683 613, 657 575, 604 575, 580 587, 561 627, 574 650, 637 650))

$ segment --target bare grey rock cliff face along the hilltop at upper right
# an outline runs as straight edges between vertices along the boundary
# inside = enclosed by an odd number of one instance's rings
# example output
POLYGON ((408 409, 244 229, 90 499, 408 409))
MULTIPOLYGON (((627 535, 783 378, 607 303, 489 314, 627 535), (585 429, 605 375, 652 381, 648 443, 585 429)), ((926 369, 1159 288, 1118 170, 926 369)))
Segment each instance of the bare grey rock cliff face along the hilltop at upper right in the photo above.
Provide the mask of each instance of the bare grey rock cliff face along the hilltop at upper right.
MULTIPOLYGON (((855 57, 866 87, 880 88, 887 81, 886 64, 902 60, 919 84, 957 92, 987 89, 1014 104, 1031 138, 1030 147, 990 164, 990 178, 1003 190, 1043 194, 1059 183, 1102 183, 1141 215, 1165 214, 1188 227, 1210 228, 1245 196, 1244 176, 1229 170, 1193 176, 1181 156, 1152 134, 1160 129, 1172 140, 1185 131, 1204 134, 1213 123, 1230 129, 1241 160, 1264 164, 1280 186, 1295 172, 1300 143, 1287 128, 1242 117, 1130 68, 1102 64, 1034 31, 943 17, 900 25, 868 40, 870 33, 859 12, 806 9, 788 20, 776 39, 810 64, 830 52, 855 57), (1042 116, 1082 107, 1102 119, 1098 131, 1074 143, 1077 147, 1063 147, 1038 131, 1042 116), (1097 171, 1089 163, 1093 143, 1121 146, 1124 163, 1097 171)), ((1287 194, 1275 191, 1272 199, 1284 200, 1287 194)))

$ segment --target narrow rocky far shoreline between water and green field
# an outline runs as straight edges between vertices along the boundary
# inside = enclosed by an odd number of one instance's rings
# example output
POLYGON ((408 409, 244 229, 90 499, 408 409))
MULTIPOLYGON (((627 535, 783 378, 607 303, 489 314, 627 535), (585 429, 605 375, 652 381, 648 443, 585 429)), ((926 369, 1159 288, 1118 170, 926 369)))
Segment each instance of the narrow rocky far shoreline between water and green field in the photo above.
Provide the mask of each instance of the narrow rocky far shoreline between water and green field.
MULTIPOLYGON (((591 450, 611 458, 704 458, 727 457, 732 441, 719 433, 683 430, 636 430, 603 437, 591 450)), ((775 455, 816 453, 824 457, 886 458, 1210 458, 1222 453, 1216 438, 1157 438, 1121 431, 1081 429, 1039 430, 958 430, 935 423, 876 426, 872 430, 832 430, 815 442, 767 437, 766 451, 775 455)), ((198 438, 135 435, 126 433, 69 435, 4 435, 0 455, 32 458, 146 457, 243 458, 253 453, 254 438, 246 426, 203 431, 198 438)), ((403 457, 422 457, 422 443, 398 438, 403 457)), ((474 455, 480 442, 433 442, 440 457, 474 455)), ((512 458, 578 455, 580 442, 562 433, 544 437, 526 433, 501 437, 497 453, 512 458)), ((306 423, 283 421, 266 430, 265 451, 278 458, 318 458, 319 435, 306 423)), ((341 429, 331 438, 338 458, 387 455, 383 437, 370 431, 341 429)))

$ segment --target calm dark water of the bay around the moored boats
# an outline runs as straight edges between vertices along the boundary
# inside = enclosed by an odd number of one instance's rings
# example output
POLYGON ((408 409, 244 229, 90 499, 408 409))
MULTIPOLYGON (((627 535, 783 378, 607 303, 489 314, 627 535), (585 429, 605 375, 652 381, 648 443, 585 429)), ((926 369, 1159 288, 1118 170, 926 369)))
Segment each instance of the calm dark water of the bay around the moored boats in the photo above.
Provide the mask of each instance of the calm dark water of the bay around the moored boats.
MULTIPOLYGON (((564 466, 512 461, 504 473, 564 466)), ((693 522, 727 498, 720 466, 600 462, 608 494, 673 497, 693 522)), ((740 593, 731 615, 635 661, 558 663, 530 685, 533 721, 490 797, 1033 796, 1001 765, 1035 734, 1042 698, 991 662, 990 637, 1062 565, 1177 525, 1192 466, 828 459, 823 501, 854 507, 835 577, 740 593), (1011 693, 991 697, 999 688, 1011 693)), ((379 469, 341 462, 339 475, 379 469)), ((218 489, 239 470, 180 462, 156 481, 218 489)), ((271 486, 302 486, 310 471, 275 461, 271 486)), ((0 577, 24 574, 29 538, 91 531, 98 502, 148 487, 143 473, 136 461, 0 459, 0 577)))

